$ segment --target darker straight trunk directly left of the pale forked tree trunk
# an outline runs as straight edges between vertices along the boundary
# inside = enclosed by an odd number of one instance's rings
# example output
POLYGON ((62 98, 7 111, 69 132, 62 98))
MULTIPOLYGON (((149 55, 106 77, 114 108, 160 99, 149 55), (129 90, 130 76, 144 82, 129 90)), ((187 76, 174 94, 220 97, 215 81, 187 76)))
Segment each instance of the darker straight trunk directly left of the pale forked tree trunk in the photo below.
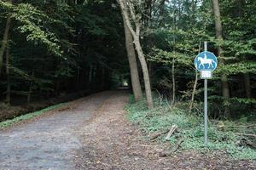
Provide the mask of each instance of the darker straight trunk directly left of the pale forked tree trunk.
POLYGON ((124 20, 124 27, 125 27, 125 45, 126 45, 129 66, 130 66, 130 73, 131 73, 131 87, 132 87, 135 101, 138 101, 143 99, 143 90, 141 87, 139 74, 137 71, 137 59, 136 59, 136 53, 133 45, 132 35, 131 35, 131 32, 129 31, 129 28, 125 24, 125 20, 124 20))

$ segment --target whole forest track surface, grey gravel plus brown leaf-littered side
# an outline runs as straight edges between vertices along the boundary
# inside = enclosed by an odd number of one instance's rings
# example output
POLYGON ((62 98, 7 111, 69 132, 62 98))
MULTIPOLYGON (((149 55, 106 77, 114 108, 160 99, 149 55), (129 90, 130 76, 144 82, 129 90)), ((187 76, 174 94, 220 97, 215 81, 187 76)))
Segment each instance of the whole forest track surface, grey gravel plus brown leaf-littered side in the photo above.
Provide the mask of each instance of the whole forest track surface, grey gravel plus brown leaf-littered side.
POLYGON ((0 131, 0 169, 255 169, 223 153, 193 150, 160 157, 126 119, 125 91, 93 94, 0 131))

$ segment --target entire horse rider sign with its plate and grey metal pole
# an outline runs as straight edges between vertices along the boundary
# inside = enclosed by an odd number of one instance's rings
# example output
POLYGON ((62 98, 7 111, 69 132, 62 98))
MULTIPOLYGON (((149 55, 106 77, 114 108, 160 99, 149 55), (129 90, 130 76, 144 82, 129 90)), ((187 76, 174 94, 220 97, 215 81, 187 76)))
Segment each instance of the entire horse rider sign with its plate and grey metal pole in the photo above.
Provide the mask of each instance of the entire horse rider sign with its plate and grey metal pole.
POLYGON ((207 110, 207 79, 212 78, 212 71, 214 71, 218 65, 217 57, 207 51, 207 42, 204 43, 204 52, 198 54, 195 58, 195 68, 200 71, 201 79, 205 82, 204 93, 204 116, 205 116, 205 144, 208 142, 208 110, 207 110))

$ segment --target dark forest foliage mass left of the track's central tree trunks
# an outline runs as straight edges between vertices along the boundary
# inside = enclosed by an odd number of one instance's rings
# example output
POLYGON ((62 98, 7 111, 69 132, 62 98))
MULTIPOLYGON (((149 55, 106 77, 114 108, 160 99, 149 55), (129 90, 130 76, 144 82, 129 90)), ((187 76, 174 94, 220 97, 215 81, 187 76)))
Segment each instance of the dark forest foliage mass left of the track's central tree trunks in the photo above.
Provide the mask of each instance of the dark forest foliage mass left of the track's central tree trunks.
POLYGON ((0 99, 7 84, 11 104, 15 104, 15 98, 24 103, 25 97, 33 101, 79 90, 107 89, 114 83, 112 78, 119 81, 119 74, 127 79, 124 30, 115 3, 0 1, 2 33, 11 17, 10 75, 8 81, 3 65, 0 99))

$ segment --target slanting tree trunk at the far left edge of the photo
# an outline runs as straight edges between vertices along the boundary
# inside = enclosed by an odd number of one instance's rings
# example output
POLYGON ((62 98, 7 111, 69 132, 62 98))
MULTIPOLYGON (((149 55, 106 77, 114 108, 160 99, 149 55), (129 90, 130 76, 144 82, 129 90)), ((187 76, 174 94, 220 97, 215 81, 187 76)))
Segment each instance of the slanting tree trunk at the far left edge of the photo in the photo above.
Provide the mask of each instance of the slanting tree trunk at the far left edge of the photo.
MULTIPOLYGON (((12 3, 12 0, 9 1, 10 3, 12 3)), ((0 48, 0 75, 2 72, 2 68, 3 68, 3 54, 6 50, 7 47, 7 43, 9 41, 9 30, 10 30, 10 26, 11 26, 11 15, 8 15, 8 18, 6 20, 6 25, 5 25, 5 29, 3 32, 3 41, 1 44, 1 48, 0 48)))

